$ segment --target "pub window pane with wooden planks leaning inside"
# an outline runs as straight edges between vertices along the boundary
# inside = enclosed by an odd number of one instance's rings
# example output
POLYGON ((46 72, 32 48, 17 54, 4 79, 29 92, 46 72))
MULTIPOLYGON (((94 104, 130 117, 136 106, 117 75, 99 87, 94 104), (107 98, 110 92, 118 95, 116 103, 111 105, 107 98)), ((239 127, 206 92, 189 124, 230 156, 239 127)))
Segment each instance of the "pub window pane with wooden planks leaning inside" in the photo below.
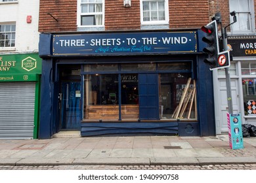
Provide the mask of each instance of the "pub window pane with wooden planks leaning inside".
POLYGON ((160 118, 196 119, 196 81, 190 74, 160 75, 160 118))

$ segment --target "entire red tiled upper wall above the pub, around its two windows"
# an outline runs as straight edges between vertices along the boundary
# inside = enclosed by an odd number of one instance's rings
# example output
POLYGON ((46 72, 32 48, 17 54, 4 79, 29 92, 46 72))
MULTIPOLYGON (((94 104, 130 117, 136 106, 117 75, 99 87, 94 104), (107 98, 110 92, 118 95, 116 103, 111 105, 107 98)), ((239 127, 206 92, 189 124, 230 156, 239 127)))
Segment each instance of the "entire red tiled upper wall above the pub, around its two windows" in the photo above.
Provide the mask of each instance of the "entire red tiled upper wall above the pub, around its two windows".
MULTIPOLYGON (((256 0, 254 0, 256 8, 256 0)), ((221 12, 223 25, 230 23, 228 0, 169 0, 169 28, 201 27, 221 12)), ((76 31, 77 0, 41 0, 39 31, 76 31), (51 13, 54 20, 48 13, 51 13)), ((105 29, 140 29, 140 0, 131 0, 131 8, 123 0, 105 0, 105 29)))

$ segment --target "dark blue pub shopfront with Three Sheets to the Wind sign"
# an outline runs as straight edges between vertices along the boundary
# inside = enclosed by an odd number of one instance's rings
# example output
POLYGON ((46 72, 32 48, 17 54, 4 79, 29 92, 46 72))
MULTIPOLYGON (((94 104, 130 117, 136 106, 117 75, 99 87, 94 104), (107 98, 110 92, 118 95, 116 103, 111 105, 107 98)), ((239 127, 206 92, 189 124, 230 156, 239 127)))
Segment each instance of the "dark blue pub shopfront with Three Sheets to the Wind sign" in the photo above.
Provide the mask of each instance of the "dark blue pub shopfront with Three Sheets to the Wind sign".
POLYGON ((39 139, 215 135, 202 32, 41 33, 39 139))

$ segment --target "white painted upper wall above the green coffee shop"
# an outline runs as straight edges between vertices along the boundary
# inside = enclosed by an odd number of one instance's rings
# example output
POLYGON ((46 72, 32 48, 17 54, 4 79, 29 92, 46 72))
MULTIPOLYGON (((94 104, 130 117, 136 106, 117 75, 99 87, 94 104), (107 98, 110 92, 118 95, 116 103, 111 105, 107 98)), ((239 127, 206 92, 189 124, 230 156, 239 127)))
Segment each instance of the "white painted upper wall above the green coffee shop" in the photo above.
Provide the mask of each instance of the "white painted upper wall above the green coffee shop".
POLYGON ((39 0, 18 0, 17 3, 0 3, 0 24, 16 22, 15 48, 1 48, 0 54, 38 52, 39 0), (32 16, 32 23, 26 18, 32 16))

